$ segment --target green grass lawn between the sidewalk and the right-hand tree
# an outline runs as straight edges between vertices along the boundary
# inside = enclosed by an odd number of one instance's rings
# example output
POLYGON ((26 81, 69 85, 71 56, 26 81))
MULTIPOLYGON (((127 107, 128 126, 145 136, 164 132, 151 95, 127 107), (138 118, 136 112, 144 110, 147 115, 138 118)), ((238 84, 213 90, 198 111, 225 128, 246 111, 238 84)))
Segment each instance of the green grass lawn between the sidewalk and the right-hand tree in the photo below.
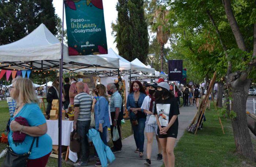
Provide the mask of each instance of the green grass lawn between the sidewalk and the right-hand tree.
MULTIPOLYGON (((217 111, 206 111, 203 130, 197 134, 185 131, 174 149, 175 166, 180 167, 224 167, 243 166, 240 155, 236 153, 231 121, 222 118, 225 135, 215 115, 217 111)), ((255 141, 254 141, 255 142, 255 141)), ((256 164, 251 164, 256 166, 256 164)))

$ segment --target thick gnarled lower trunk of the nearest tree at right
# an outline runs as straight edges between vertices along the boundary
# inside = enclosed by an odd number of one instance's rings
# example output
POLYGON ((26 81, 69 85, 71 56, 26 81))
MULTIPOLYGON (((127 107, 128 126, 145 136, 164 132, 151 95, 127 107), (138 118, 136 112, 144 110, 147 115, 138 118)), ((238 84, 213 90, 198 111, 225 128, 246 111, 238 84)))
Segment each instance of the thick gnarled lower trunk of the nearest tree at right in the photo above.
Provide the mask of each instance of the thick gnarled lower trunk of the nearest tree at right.
POLYGON ((232 120, 236 150, 245 158, 255 161, 255 153, 252 148, 251 136, 246 121, 246 100, 251 80, 247 79, 246 71, 233 72, 228 76, 228 87, 231 88, 232 107, 236 118, 232 120))

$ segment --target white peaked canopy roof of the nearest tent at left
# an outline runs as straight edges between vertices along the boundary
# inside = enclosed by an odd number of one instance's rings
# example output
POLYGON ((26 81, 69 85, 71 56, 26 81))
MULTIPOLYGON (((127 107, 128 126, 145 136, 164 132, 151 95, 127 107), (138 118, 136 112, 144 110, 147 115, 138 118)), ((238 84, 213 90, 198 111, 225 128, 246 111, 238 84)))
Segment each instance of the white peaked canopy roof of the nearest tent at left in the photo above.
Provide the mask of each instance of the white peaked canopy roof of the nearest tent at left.
MULTIPOLYGON (((57 69, 59 59, 61 59, 61 42, 44 24, 39 25, 22 39, 0 46, 2 69, 57 69)), ((68 56, 68 47, 63 46, 64 69, 95 66, 118 69, 119 60, 103 55, 68 56)))

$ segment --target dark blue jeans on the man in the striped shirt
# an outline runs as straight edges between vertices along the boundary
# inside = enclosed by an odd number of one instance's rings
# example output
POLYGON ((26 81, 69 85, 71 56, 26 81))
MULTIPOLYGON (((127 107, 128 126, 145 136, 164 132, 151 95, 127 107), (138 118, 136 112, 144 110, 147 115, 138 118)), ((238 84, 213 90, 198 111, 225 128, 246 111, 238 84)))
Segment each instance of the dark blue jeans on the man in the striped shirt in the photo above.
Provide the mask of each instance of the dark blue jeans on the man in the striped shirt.
POLYGON ((89 142, 87 134, 89 132, 91 120, 87 121, 77 121, 76 122, 76 129, 78 131, 78 134, 81 138, 81 148, 80 148, 80 159, 82 162, 87 162, 89 159, 89 142))

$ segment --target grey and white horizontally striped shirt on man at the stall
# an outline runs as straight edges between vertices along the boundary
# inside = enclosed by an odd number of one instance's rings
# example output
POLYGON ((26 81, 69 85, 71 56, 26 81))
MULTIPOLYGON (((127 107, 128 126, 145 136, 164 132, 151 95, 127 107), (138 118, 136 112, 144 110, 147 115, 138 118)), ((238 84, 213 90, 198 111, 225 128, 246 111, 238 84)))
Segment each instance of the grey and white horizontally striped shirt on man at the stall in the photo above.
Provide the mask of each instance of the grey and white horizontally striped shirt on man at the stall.
POLYGON ((91 120, 91 96, 87 93, 81 92, 77 94, 74 98, 74 107, 79 107, 79 121, 91 120))

